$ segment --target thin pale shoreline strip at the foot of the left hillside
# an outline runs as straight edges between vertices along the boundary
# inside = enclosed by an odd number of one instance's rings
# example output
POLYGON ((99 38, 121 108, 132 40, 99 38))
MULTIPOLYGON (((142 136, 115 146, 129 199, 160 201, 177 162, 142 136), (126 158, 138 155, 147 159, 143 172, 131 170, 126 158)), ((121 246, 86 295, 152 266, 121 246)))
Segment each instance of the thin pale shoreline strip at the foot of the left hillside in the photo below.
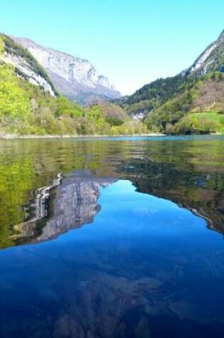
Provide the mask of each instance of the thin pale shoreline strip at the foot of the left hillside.
POLYGON ((129 134, 129 135, 19 135, 0 134, 0 139, 77 139, 77 138, 101 138, 101 137, 155 137, 166 136, 165 134, 129 134))

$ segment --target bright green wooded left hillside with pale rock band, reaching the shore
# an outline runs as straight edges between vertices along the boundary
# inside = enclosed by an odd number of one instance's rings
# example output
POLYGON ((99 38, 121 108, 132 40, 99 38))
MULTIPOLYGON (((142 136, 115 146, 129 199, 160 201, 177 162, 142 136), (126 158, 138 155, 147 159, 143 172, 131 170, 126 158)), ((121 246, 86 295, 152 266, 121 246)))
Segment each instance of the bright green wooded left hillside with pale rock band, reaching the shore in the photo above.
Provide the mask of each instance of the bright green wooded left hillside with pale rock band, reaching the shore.
MULTIPOLYGON (((90 78, 94 78, 93 73, 90 78)), ((107 84, 102 77, 97 81, 107 84)), ((85 95, 90 100, 90 95, 85 95)), ((97 97, 99 100, 99 94, 91 95, 92 99, 97 97)), ((132 121, 121 107, 110 102, 104 100, 80 107, 68 100, 58 92, 46 69, 26 48, 0 34, 0 137, 8 134, 117 135, 145 132, 142 123, 132 121)))

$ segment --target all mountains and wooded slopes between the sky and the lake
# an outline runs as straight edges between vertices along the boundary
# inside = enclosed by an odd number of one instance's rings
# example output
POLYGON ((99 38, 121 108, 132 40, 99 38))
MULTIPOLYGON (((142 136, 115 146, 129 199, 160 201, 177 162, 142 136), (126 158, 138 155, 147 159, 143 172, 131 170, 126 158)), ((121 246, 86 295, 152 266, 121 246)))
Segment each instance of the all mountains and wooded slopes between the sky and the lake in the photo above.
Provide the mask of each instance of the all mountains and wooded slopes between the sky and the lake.
POLYGON ((121 97, 87 60, 1 34, 4 135, 224 132, 224 31, 181 74, 121 97))

